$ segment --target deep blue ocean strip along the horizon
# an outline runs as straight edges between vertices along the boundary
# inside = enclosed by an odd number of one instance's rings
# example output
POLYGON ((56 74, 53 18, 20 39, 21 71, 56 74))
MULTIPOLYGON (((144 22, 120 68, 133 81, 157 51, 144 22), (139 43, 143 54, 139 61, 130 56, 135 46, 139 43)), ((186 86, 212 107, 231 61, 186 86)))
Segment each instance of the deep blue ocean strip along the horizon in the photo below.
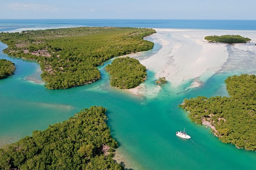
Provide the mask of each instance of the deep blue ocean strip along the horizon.
POLYGON ((255 30, 256 20, 197 20, 197 19, 0 19, 0 31, 24 28, 55 27, 139 27, 255 30))

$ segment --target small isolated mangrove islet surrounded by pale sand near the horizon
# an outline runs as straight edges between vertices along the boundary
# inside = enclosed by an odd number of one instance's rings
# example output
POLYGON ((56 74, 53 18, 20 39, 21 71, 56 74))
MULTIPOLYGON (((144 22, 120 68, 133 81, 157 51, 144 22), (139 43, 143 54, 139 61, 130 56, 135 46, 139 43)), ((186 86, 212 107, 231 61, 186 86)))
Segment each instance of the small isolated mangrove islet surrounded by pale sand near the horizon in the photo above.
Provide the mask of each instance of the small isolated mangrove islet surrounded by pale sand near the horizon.
POLYGON ((240 35, 211 35, 204 37, 205 40, 208 40, 209 42, 219 42, 219 43, 247 43, 248 41, 251 41, 250 38, 245 38, 240 35))

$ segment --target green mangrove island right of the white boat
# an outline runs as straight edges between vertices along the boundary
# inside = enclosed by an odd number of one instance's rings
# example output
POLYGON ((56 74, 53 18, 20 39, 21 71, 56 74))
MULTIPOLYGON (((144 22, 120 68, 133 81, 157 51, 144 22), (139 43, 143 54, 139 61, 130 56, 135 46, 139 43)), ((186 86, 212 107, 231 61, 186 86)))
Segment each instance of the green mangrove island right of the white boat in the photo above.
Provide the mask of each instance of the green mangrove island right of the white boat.
POLYGON ((230 97, 198 96, 180 105, 198 124, 209 125, 224 143, 256 150, 256 76, 241 75, 226 80, 230 97))

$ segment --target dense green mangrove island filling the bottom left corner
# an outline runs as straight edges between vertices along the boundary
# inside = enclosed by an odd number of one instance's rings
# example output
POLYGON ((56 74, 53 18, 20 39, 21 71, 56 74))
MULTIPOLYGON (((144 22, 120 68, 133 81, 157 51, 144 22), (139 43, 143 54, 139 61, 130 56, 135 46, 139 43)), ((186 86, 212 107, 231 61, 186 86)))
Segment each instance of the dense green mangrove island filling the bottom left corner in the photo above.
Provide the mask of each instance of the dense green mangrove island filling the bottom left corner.
POLYGON ((0 169, 124 169, 114 163, 117 142, 106 125, 106 109, 90 107, 67 121, 0 149, 0 169))

